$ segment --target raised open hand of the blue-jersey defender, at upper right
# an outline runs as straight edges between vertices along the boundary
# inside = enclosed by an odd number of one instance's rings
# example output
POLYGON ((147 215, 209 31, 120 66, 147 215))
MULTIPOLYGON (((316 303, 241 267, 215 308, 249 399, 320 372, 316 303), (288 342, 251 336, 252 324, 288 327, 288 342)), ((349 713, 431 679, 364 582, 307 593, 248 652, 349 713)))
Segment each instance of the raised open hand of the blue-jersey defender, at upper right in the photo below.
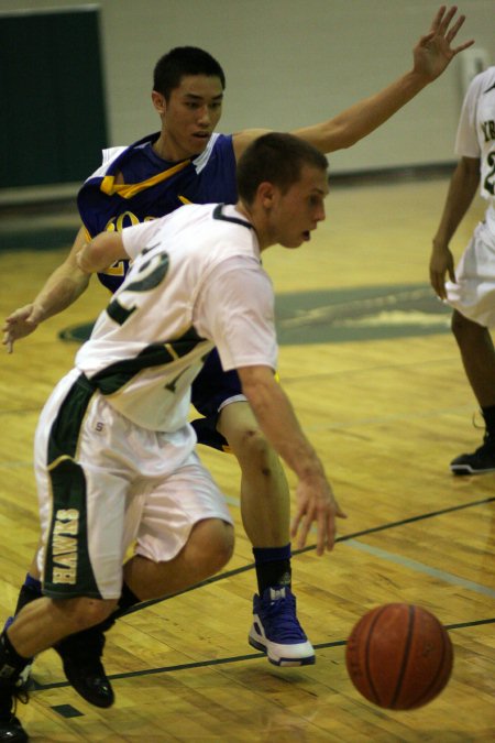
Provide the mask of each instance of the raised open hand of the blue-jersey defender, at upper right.
POLYGON ((433 19, 429 33, 421 36, 414 48, 415 72, 425 76, 430 81, 443 73, 459 52, 474 44, 474 40, 471 40, 459 46, 451 46, 465 21, 465 15, 460 15, 453 22, 457 12, 457 6, 452 6, 449 10, 447 10, 446 6, 441 6, 433 19))

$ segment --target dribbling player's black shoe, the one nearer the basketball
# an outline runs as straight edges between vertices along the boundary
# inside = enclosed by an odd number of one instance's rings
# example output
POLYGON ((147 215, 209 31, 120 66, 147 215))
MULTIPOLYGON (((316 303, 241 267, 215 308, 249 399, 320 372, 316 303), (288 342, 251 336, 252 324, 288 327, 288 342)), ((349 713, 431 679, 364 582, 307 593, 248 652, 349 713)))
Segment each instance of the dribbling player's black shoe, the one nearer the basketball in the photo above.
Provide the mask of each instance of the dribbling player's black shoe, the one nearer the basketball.
POLYGON ((68 682, 77 693, 95 707, 107 708, 113 704, 116 697, 100 659, 103 646, 105 634, 99 627, 90 627, 65 637, 54 648, 62 658, 68 682))

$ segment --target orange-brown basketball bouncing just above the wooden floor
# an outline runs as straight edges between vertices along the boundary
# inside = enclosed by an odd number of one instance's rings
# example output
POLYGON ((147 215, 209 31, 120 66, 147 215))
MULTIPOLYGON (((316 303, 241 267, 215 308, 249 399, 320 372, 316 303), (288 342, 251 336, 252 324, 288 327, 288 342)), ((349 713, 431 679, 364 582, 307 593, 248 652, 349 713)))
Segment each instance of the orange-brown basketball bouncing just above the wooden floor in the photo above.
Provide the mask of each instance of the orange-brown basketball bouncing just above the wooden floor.
POLYGON ((354 625, 345 648, 351 681, 369 701, 393 710, 430 702, 446 687, 453 649, 439 620, 421 607, 388 603, 354 625))

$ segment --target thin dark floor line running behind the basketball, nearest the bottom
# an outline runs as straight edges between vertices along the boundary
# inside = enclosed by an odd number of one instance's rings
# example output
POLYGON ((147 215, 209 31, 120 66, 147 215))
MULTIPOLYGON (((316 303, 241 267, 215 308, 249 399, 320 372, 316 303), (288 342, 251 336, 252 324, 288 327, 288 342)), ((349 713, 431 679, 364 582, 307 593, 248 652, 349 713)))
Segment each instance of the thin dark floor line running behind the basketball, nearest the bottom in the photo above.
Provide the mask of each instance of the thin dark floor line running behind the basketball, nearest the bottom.
MULTIPOLYGON (((471 626, 481 626, 484 624, 495 624, 495 618, 475 620, 473 622, 460 622, 458 624, 446 624, 446 630, 465 630, 471 626)), ((346 645, 346 640, 337 640, 331 643, 319 643, 315 645, 316 651, 329 649, 333 647, 343 647, 346 645)), ((161 668, 144 668, 143 670, 130 670, 123 674, 111 674, 109 678, 111 680, 118 680, 123 678, 135 678, 138 676, 153 676, 155 674, 170 674, 177 670, 191 670, 195 668, 206 668, 208 666, 224 666, 231 663, 242 663, 243 660, 265 660, 264 653, 249 653, 248 655, 234 655, 227 658, 211 658, 209 660, 197 660, 191 663, 180 663, 176 666, 162 666, 161 668)), ((296 669, 300 671, 304 670, 304 666, 297 666, 296 669)), ((286 669, 287 670, 287 669, 286 669)), ((68 681, 54 681, 53 684, 38 684, 33 681, 33 688, 35 691, 46 691, 48 689, 59 689, 70 686, 68 681)))

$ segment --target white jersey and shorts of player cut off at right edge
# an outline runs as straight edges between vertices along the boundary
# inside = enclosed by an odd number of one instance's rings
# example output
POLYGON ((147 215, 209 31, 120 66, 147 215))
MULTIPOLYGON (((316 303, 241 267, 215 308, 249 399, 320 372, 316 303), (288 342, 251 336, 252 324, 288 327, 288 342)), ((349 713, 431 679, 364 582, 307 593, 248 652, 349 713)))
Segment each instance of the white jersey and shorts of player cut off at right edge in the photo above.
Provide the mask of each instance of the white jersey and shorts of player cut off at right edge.
POLYGON ((480 193, 488 203, 457 269, 457 283, 446 282, 448 302, 470 320, 495 326, 495 67, 471 83, 455 141, 461 157, 480 159, 480 193))

